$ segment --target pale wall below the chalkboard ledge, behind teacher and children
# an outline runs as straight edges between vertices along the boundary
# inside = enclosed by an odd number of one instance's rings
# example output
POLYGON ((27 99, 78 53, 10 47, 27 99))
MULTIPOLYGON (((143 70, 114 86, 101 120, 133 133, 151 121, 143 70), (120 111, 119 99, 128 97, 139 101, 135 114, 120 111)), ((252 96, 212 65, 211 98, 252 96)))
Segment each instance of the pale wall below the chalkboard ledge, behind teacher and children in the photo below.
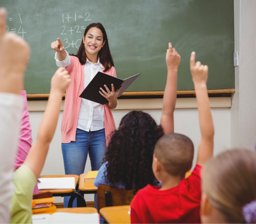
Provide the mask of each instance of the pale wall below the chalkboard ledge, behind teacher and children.
MULTIPOLYGON (((113 116, 117 127, 119 126, 122 117, 130 110, 114 110, 113 116)), ((159 124, 162 114, 161 109, 143 110, 149 113, 159 124)), ((37 131, 43 117, 44 111, 29 111, 30 123, 32 126, 33 141, 36 139, 37 131)), ((41 175, 61 175, 65 174, 63 158, 61 152, 61 119, 63 111, 59 114, 58 125, 52 143, 50 144, 49 153, 41 175)), ((214 153, 218 154, 221 151, 230 147, 230 108, 212 108, 213 121, 215 125, 215 146, 214 153)), ((178 108, 174 112, 175 132, 187 135, 192 139, 195 145, 195 158, 197 156, 197 147, 200 141, 200 129, 198 123, 197 108, 178 108)), ((194 163, 195 163, 194 158, 194 163)), ((90 171, 90 160, 87 159, 85 172, 90 171)), ((85 200, 93 201, 93 195, 85 195, 85 200)), ((62 202, 63 199, 56 198, 57 202, 62 202)))

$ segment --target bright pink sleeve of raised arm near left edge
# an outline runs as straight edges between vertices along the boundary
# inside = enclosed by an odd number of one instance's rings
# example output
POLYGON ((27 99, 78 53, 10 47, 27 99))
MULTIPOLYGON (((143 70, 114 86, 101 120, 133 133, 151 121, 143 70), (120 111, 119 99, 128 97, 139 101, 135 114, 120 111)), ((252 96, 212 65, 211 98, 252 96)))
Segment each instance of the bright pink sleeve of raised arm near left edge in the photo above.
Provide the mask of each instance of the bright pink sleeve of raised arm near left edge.
POLYGON ((29 111, 27 110, 26 91, 20 91, 20 94, 23 97, 24 108, 21 117, 20 141, 18 144, 18 151, 15 158, 15 169, 18 169, 23 164, 32 144, 32 132, 29 122, 29 111))

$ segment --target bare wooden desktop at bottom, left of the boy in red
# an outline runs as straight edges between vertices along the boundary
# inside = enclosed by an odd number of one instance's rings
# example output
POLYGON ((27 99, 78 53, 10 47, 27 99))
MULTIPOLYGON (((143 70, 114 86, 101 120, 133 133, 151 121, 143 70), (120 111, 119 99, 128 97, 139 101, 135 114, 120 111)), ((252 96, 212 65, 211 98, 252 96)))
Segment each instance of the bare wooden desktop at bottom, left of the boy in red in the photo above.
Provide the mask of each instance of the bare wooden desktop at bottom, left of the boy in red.
POLYGON ((131 216, 128 213, 130 208, 130 205, 104 207, 99 213, 108 224, 130 224, 131 216))

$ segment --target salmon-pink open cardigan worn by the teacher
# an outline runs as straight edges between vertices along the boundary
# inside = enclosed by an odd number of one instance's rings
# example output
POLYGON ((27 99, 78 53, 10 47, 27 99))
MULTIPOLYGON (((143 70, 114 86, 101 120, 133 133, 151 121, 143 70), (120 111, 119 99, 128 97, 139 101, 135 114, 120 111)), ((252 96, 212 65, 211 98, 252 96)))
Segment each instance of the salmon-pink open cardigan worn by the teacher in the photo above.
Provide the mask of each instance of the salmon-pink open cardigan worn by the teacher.
MULTIPOLYGON (((71 63, 66 67, 69 72, 72 82, 66 91, 66 98, 64 103, 64 112, 61 122, 61 142, 69 143, 76 140, 76 127, 78 123, 79 109, 82 98, 80 94, 84 91, 84 66, 81 65, 79 59, 75 56, 70 56, 71 63)), ((104 67, 102 69, 102 72, 104 67)), ((110 70, 104 72, 108 75, 116 77, 116 70, 112 66, 110 70)), ((108 103, 104 105, 104 119, 105 119, 105 135, 107 146, 110 140, 110 134, 116 130, 111 110, 108 108, 108 103)))

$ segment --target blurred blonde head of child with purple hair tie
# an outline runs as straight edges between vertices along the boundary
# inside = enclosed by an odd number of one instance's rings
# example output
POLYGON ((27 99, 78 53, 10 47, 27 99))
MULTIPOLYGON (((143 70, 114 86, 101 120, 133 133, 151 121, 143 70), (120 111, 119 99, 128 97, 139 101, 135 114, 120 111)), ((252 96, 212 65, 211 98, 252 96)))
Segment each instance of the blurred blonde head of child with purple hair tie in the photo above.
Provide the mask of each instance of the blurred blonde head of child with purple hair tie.
POLYGON ((203 192, 227 223, 256 221, 256 153, 226 151, 203 168, 203 192))

